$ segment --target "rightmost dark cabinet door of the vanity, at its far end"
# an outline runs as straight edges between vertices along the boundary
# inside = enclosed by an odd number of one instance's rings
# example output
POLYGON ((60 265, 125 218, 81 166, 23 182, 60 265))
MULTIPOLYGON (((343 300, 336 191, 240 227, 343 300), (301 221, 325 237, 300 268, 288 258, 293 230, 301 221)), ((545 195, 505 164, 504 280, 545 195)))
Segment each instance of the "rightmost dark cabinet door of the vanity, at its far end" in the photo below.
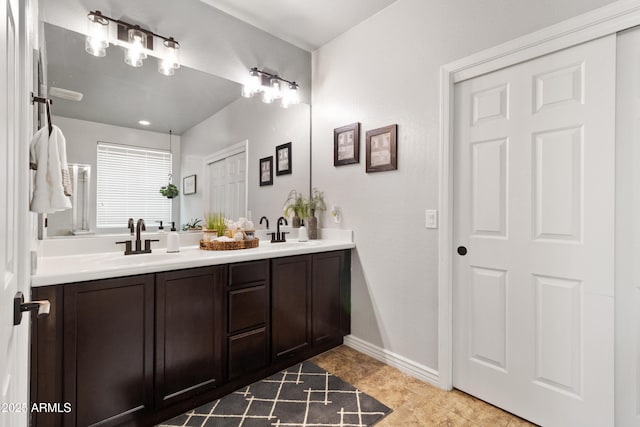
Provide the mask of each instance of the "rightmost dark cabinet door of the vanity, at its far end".
POLYGON ((340 290, 343 268, 343 252, 313 255, 311 299, 314 345, 342 336, 343 308, 340 290))

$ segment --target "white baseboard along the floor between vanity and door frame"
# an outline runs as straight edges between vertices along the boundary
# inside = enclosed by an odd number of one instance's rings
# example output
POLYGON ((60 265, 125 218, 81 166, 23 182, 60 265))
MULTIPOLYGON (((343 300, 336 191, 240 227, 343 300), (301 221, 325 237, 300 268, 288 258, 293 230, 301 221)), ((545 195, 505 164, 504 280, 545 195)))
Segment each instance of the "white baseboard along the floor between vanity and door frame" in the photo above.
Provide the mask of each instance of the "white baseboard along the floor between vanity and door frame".
POLYGON ((440 387, 438 371, 434 369, 421 365, 420 363, 416 363, 413 360, 409 360, 392 351, 380 348, 377 345, 373 345, 360 338, 356 338, 353 335, 347 335, 344 337, 344 345, 351 347, 354 350, 358 350, 367 356, 371 356, 382 363, 393 366, 414 378, 433 384, 436 387, 440 387))

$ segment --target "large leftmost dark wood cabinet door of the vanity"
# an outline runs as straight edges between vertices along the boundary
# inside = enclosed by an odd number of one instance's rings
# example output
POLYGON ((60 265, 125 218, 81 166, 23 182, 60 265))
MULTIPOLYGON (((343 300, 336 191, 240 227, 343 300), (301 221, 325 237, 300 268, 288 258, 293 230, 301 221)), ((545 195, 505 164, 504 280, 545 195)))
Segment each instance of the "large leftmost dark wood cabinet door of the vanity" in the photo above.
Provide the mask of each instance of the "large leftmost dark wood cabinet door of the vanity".
POLYGON ((153 406, 152 274, 64 287, 66 426, 122 425, 153 406))

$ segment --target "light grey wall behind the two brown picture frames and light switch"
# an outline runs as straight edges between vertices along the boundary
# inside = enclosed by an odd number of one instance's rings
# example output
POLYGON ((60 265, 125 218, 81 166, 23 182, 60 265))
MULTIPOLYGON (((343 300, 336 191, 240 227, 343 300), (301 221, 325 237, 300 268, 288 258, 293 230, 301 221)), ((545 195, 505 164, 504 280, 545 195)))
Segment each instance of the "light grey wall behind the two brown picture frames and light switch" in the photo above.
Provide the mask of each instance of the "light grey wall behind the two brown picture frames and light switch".
POLYGON ((607 3, 399 0, 314 52, 312 181, 355 231, 353 336, 438 368, 439 68, 607 3), (360 164, 335 168, 333 129, 353 122, 360 164), (366 174, 366 131, 394 123, 398 170, 366 174))

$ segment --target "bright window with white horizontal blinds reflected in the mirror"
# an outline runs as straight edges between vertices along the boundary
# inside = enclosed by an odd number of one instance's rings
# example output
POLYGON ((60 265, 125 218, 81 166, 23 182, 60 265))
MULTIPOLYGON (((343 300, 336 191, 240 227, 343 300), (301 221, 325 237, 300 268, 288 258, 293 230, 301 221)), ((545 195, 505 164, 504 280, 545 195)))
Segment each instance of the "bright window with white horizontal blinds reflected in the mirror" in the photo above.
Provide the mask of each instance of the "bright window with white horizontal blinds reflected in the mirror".
POLYGON ((171 221, 171 200, 160 194, 171 153, 98 142, 96 226, 126 227, 129 218, 171 221))

